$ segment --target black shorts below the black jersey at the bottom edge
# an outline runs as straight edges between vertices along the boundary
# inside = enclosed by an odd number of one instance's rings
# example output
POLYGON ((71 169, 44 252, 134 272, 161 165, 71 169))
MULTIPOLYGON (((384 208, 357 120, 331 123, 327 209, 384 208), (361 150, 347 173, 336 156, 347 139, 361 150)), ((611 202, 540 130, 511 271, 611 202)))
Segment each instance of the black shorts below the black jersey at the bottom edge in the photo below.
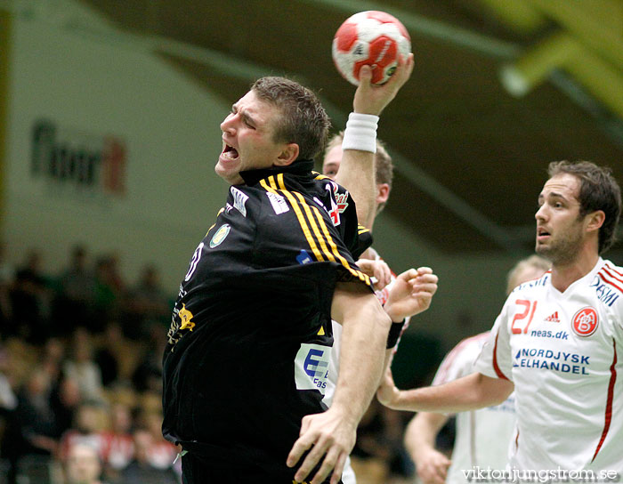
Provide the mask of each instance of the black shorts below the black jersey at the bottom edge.
MULTIPOLYGON (((312 480, 315 471, 308 477, 309 480, 312 480)), ((295 472, 286 464, 282 469, 278 465, 270 468, 256 464, 223 465, 190 452, 182 456, 182 484, 293 484, 295 472)), ((328 482, 325 480, 323 484, 328 482)))

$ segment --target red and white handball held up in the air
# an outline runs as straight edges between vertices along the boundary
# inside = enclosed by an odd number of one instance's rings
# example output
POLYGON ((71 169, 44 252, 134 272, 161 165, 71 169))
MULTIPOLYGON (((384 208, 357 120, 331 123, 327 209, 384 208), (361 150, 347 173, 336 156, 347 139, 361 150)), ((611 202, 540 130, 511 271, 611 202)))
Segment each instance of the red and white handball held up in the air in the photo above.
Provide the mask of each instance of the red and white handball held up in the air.
POLYGON ((401 21, 386 12, 368 10, 344 20, 333 39, 333 61, 339 73, 359 85, 361 66, 372 66, 372 83, 383 84, 409 55, 411 37, 401 21))

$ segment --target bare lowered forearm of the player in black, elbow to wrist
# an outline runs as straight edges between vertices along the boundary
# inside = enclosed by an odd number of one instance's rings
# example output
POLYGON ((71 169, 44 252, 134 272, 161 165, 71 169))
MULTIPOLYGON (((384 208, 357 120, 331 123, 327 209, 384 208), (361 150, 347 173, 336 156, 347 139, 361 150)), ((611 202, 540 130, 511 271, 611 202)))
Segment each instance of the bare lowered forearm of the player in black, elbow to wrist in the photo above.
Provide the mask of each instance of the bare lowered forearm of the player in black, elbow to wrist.
POLYGON ((367 306, 362 311, 353 312, 342 323, 340 373, 331 405, 347 409, 357 422, 368 408, 383 375, 385 345, 391 324, 378 303, 367 306))

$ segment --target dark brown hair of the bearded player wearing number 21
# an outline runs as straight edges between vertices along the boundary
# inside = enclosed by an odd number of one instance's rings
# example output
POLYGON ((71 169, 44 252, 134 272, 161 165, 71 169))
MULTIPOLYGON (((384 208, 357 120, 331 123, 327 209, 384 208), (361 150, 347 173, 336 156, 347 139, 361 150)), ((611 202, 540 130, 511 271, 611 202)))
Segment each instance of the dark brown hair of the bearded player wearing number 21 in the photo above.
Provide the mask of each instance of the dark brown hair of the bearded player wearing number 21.
POLYGON ((599 229, 599 254, 607 251, 617 239, 621 214, 621 190, 608 167, 590 161, 554 161, 549 164, 550 177, 560 173, 577 176, 579 185, 579 216, 602 210, 606 215, 599 229))

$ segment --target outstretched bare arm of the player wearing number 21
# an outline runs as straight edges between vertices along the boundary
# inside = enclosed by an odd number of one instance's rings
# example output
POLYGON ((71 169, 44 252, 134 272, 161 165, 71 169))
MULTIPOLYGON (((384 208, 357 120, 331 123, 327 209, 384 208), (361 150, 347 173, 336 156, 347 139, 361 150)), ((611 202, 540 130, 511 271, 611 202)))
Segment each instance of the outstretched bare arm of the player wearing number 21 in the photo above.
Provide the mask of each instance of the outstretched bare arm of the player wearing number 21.
POLYGON ((396 391, 385 405, 396 410, 456 413, 497 405, 512 391, 513 383, 473 373, 439 386, 396 391))

